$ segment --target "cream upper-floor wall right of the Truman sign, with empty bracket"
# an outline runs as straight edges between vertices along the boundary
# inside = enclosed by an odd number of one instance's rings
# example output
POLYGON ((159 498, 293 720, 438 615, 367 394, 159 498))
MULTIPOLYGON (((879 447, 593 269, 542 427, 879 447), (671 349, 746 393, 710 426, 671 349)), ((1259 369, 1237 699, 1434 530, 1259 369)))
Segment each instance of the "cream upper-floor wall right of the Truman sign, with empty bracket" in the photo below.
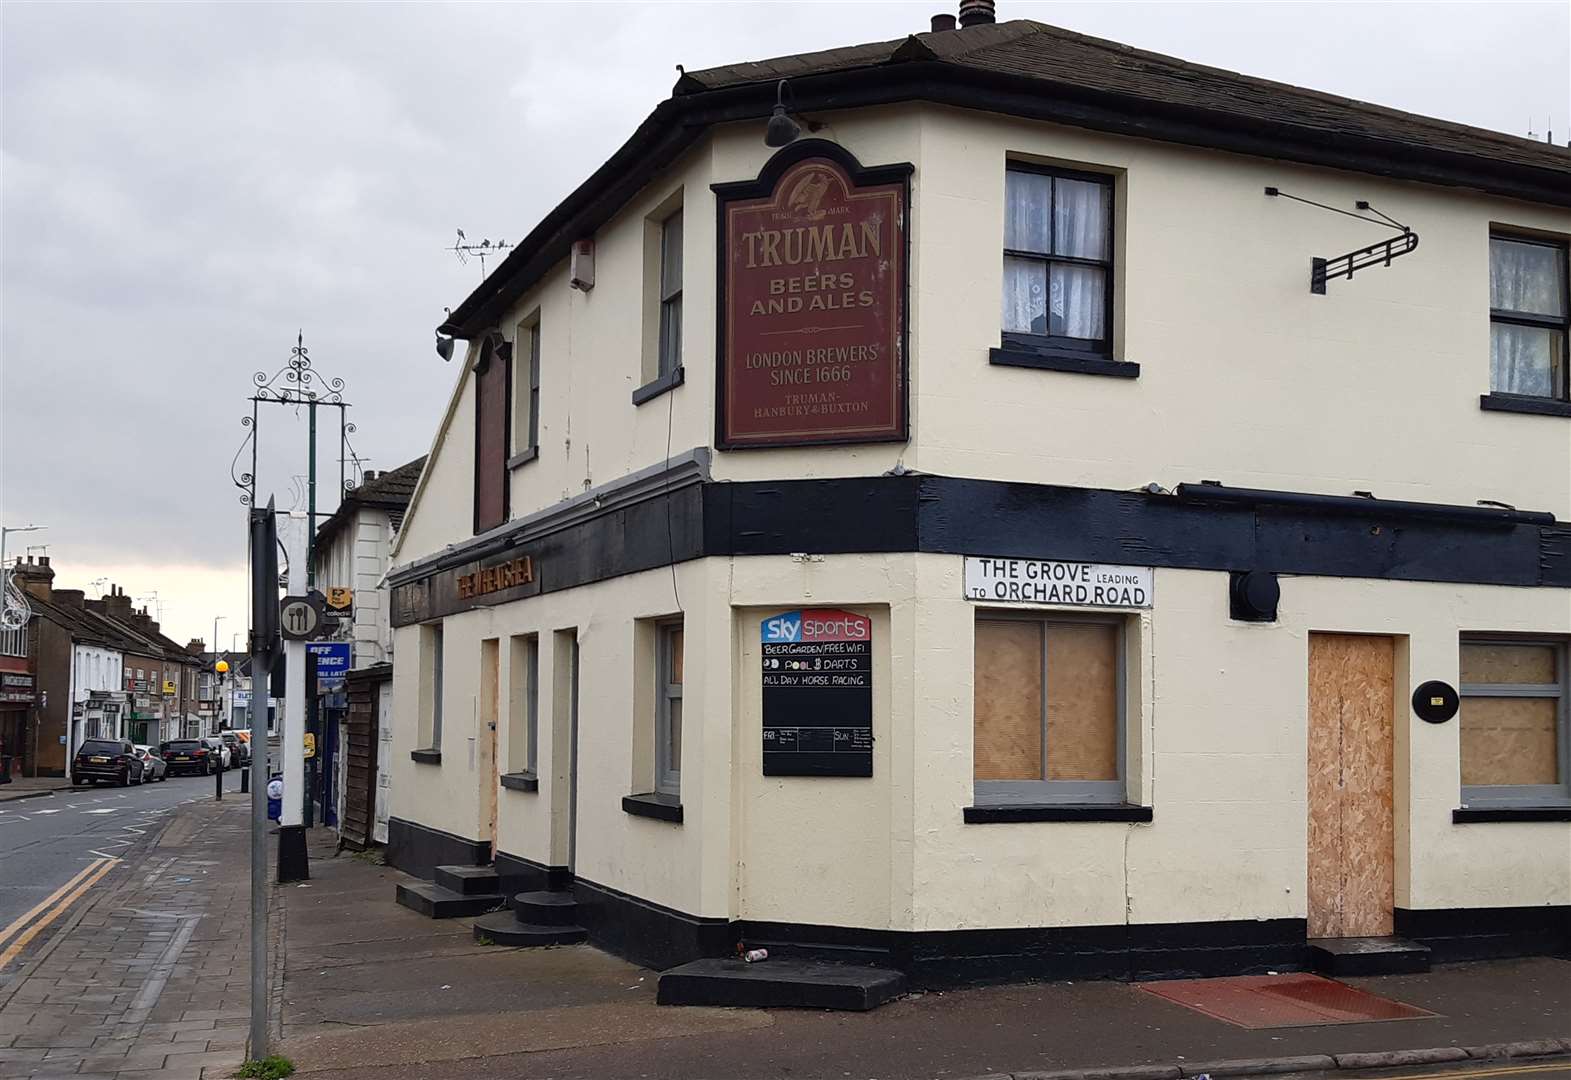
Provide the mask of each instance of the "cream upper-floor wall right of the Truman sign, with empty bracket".
POLYGON ((1571 212, 976 112, 925 108, 917 159, 916 440, 925 472, 1131 489, 1150 481, 1571 516, 1571 424, 1483 412, 1489 225, 1571 212), (1119 173, 1120 360, 1139 379, 998 368, 1004 167, 1119 173), (1265 186, 1408 222, 1419 248, 1309 292, 1310 256, 1389 231, 1265 186))

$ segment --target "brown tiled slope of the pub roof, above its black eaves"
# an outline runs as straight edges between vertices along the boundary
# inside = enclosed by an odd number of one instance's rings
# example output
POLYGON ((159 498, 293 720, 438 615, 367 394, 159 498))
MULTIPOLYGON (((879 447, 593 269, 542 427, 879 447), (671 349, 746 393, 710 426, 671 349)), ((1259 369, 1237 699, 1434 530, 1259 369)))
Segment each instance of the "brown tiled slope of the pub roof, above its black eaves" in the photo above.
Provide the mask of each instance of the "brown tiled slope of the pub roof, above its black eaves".
POLYGON ((1207 68, 1029 19, 693 71, 679 83, 679 91, 721 90, 759 80, 917 60, 1040 82, 1045 88, 1114 94, 1276 127, 1362 135, 1414 148, 1552 168, 1566 173, 1571 182, 1571 149, 1565 146, 1207 68))

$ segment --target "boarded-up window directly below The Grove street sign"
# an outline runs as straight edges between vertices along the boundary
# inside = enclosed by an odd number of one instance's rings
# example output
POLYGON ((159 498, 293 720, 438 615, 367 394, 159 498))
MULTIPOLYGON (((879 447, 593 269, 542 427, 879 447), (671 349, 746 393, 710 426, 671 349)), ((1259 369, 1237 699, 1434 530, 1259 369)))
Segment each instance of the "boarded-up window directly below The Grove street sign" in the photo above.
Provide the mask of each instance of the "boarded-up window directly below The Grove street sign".
POLYGON ((1117 623, 979 618, 979 802, 1122 802, 1117 623))

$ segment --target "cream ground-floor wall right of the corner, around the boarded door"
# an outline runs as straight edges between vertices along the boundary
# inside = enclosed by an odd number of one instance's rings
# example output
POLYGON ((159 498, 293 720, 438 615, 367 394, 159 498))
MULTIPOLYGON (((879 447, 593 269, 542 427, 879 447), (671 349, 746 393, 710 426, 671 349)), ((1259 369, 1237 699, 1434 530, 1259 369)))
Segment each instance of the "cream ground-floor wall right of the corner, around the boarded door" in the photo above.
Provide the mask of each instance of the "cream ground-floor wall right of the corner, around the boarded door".
POLYGON ((1563 591, 1284 577, 1280 619, 1246 624, 1227 618, 1227 574, 1158 569, 1141 616, 1147 674, 1130 681, 1147 770, 1131 799, 1155 808, 1152 824, 968 825, 977 605, 961 599, 958 557, 917 568, 917 929, 1304 918, 1316 630, 1404 646, 1397 906, 1571 902, 1571 825, 1452 824, 1459 726, 1423 723, 1408 704, 1417 682, 1456 684, 1464 630, 1571 632, 1563 591))

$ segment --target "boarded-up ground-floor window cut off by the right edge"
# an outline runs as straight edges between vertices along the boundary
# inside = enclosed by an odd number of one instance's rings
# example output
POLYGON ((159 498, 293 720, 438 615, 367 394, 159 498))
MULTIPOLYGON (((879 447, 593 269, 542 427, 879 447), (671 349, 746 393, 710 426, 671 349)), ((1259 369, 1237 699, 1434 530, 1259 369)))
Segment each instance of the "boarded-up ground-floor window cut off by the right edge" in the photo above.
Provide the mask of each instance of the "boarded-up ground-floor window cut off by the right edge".
POLYGON ((1565 684, 1565 643, 1463 641, 1459 720, 1467 802, 1566 799, 1565 684))

